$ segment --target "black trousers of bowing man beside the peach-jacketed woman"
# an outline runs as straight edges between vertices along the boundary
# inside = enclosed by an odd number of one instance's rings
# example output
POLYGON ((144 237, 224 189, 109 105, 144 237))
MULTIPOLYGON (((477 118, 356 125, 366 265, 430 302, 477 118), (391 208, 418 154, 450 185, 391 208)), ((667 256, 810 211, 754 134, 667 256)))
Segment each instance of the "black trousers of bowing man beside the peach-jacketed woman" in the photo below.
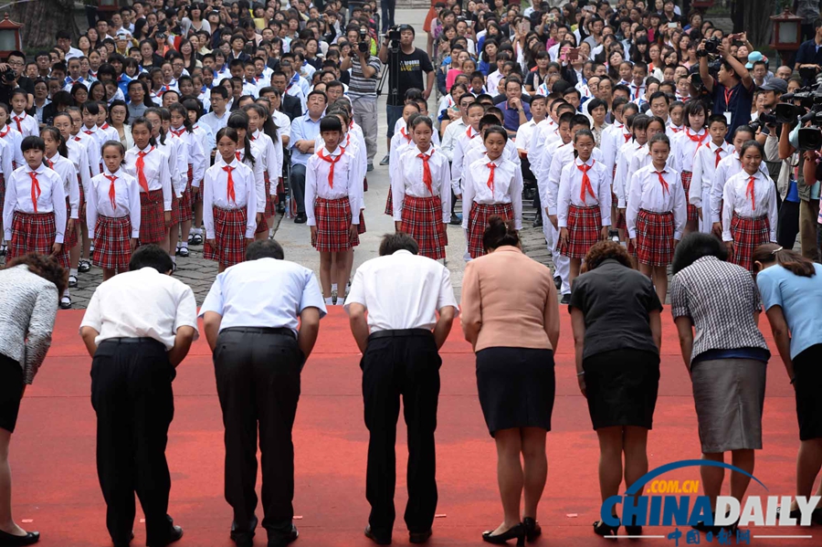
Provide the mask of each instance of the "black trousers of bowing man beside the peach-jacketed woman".
POLYGON ((363 399, 368 442, 365 497, 371 504, 368 521, 378 537, 391 537, 394 528, 396 483, 396 420, 403 397, 408 430, 408 531, 431 529, 437 509, 436 453, 439 366, 434 336, 415 330, 410 336, 375 332, 363 355, 363 399), (382 337, 380 337, 382 336, 382 337))

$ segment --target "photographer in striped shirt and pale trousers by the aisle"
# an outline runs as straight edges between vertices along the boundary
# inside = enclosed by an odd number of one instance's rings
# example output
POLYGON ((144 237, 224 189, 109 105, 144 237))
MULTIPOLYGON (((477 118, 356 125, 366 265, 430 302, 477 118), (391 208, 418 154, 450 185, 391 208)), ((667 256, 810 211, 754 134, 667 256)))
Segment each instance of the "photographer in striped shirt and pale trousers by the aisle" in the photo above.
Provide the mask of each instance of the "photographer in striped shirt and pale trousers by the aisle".
POLYGON ((377 132, 379 131, 376 89, 383 63, 380 62, 380 58, 371 55, 371 36, 368 34, 367 27, 352 24, 346 27, 345 34, 348 40, 357 46, 351 47, 348 55, 342 58, 340 70, 351 69, 348 98, 351 100, 353 119, 363 128, 365 149, 368 155, 368 171, 373 171, 377 132))

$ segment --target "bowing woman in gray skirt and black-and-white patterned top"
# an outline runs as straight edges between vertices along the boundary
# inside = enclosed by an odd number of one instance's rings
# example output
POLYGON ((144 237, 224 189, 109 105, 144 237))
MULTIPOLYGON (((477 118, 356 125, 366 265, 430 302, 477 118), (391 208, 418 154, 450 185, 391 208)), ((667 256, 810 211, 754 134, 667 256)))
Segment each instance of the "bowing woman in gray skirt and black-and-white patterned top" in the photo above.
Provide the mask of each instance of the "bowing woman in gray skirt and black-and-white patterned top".
MULTIPOLYGON (((754 450, 762 448, 771 354, 757 326, 762 300, 754 279, 725 258, 716 237, 699 232, 684 237, 671 267, 670 309, 693 384, 702 458, 724 461, 730 451, 732 465, 753 474, 754 450)), ((701 477, 715 509, 724 469, 702 467, 701 477)), ((733 472, 731 495, 742 501, 749 482, 750 477, 733 472)))

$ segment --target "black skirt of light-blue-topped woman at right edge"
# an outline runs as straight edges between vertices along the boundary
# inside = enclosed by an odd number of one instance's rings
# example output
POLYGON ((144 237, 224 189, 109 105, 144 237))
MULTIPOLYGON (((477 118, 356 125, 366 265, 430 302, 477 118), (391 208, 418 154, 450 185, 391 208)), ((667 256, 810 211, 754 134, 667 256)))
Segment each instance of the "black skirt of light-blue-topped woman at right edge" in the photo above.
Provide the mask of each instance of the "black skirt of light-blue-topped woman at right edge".
POLYGON ((799 440, 822 438, 822 344, 794 357, 794 378, 799 440))

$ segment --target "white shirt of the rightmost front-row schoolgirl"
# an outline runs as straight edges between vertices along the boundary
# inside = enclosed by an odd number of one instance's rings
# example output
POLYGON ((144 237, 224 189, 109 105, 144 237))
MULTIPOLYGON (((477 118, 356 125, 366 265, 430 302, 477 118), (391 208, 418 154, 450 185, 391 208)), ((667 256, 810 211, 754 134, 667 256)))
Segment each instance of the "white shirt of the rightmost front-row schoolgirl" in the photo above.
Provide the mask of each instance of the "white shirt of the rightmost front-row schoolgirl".
POLYGON ((732 241, 731 220, 733 214, 746 218, 768 217, 771 241, 776 241, 776 185, 768 175, 754 174, 754 196, 748 192, 751 175, 740 171, 734 174, 722 191, 722 241, 732 241))

